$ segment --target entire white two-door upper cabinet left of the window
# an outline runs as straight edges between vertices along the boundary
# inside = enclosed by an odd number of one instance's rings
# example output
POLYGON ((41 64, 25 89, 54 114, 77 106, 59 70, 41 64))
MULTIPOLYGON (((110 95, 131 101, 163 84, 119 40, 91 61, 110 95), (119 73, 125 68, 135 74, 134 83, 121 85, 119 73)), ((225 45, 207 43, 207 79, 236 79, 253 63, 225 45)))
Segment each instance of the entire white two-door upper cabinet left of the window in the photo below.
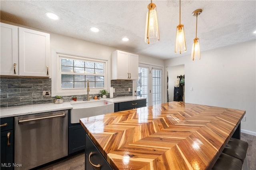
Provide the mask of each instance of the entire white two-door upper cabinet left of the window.
POLYGON ((49 77, 49 66, 50 34, 1 23, 1 75, 49 77))

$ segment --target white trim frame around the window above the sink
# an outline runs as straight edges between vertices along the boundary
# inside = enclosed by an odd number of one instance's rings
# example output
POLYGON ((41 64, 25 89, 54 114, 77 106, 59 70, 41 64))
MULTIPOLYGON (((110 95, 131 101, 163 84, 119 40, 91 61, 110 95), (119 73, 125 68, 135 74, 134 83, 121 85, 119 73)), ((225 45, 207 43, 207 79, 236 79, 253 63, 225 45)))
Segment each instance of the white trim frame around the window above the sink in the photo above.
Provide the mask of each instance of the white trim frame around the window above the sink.
POLYGON ((54 52, 52 53, 52 96, 55 95, 62 95, 62 96, 69 96, 69 95, 86 95, 87 88, 78 88, 78 89, 61 89, 61 61, 60 57, 69 58, 69 59, 81 59, 87 61, 94 61, 94 62, 101 62, 104 63, 104 87, 100 88, 91 88, 90 94, 98 94, 99 90, 107 89, 107 65, 108 61, 104 59, 96 59, 81 55, 74 55, 74 54, 67 54, 67 53, 60 53, 54 52), (56 67, 54 67, 54 65, 56 67))

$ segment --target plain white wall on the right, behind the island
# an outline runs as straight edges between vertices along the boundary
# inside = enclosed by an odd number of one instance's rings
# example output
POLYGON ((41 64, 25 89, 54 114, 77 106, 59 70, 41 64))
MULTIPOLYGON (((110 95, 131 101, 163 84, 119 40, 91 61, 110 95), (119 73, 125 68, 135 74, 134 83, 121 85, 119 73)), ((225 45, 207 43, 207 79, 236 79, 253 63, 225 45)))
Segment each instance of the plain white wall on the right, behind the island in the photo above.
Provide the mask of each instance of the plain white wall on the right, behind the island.
POLYGON ((165 60, 165 67, 185 64, 186 103, 246 111, 242 132, 256 136, 256 41, 165 60), (190 91, 193 87, 193 91, 190 91))

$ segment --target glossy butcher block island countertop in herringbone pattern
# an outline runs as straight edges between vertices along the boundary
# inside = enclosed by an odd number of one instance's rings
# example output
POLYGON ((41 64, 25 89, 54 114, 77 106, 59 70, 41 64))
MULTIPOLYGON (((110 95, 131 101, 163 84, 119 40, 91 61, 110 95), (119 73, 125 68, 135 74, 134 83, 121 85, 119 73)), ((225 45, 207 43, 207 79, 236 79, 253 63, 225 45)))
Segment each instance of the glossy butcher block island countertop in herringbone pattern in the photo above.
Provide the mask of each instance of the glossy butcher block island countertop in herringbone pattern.
POLYGON ((245 111, 181 102, 80 119, 117 170, 211 169, 245 111))

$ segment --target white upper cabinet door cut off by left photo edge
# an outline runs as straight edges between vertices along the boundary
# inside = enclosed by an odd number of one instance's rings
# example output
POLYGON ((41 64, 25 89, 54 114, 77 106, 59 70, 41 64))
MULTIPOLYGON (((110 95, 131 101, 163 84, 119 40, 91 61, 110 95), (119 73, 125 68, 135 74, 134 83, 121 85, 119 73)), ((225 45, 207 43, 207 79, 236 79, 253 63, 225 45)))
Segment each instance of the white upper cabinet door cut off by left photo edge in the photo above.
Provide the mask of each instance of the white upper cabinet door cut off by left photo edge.
POLYGON ((1 75, 18 75, 18 27, 1 23, 1 75))

